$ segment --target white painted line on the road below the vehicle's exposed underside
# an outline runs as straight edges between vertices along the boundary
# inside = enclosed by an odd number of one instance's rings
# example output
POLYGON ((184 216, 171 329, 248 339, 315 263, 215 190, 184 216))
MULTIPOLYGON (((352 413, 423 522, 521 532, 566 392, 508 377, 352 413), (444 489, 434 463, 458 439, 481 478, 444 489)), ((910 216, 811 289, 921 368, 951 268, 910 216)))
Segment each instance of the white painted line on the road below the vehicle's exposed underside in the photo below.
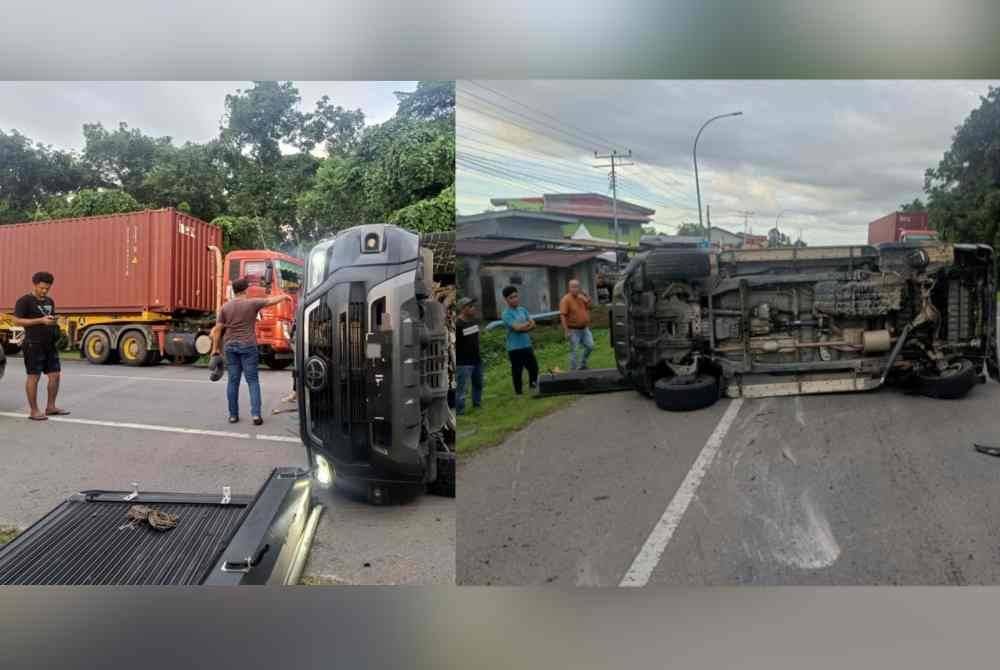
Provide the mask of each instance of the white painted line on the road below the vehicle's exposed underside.
POLYGON ((684 516, 684 512, 694 499, 695 493, 698 491, 698 485, 701 484, 701 480, 712 466, 712 461, 715 460, 715 455, 719 452, 722 441, 725 439, 726 433, 729 432, 729 428, 733 425, 733 421, 736 420, 736 415, 739 414, 740 407, 742 406, 743 398, 737 398, 729 403, 729 407, 726 408, 722 418, 719 419, 715 430, 709 435, 708 441, 702 447, 701 453, 698 454, 694 465, 691 466, 687 476, 684 477, 684 481, 681 482, 680 488, 677 489, 670 504, 667 505, 663 516, 660 517, 656 526, 653 527, 653 532, 649 534, 646 543, 642 545, 642 549, 639 550, 635 560, 632 561, 631 567, 625 573, 625 577, 619 586, 645 586, 649 582, 653 570, 659 565, 660 558, 663 556, 663 552, 666 551, 670 538, 673 537, 674 531, 677 530, 677 526, 684 516))

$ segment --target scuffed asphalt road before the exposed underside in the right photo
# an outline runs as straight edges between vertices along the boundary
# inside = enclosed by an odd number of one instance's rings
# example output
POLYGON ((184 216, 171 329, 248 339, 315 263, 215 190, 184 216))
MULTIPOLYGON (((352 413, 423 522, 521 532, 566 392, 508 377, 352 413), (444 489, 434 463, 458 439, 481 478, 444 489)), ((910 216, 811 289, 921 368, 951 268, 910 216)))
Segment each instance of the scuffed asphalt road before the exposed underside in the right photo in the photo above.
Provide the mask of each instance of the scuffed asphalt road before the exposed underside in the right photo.
POLYGON ((1000 458, 972 448, 1000 444, 998 407, 995 382, 693 413, 584 397, 460 463, 457 581, 612 586, 642 554, 638 585, 998 584, 1000 458))

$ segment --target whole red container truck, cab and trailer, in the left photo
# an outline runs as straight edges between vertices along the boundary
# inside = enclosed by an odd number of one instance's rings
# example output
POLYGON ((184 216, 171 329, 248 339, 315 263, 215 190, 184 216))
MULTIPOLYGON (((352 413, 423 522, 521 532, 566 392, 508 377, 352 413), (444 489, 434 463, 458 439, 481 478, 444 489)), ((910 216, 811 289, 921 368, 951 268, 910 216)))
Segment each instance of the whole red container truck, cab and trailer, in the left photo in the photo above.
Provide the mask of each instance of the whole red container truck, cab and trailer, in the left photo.
POLYGON ((89 362, 191 363, 211 350, 227 287, 247 276, 252 297, 293 298, 257 322, 262 360, 287 367, 303 262, 269 250, 223 257, 221 248, 217 226, 175 209, 0 226, 0 345, 19 350, 24 332, 7 315, 32 274, 48 270, 60 330, 89 362))

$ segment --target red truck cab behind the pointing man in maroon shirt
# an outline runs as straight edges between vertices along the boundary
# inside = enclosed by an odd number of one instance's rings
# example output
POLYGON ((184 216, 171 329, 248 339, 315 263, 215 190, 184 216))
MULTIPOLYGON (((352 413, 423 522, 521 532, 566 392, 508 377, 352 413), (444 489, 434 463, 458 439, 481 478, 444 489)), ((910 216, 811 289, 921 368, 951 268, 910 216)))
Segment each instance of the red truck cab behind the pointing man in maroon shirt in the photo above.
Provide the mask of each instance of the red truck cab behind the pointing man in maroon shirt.
POLYGON ((278 251, 232 251, 225 259, 226 300, 232 298, 231 284, 240 277, 250 280, 247 296, 266 298, 290 295, 290 302, 265 307, 257 316, 257 345, 268 367, 282 370, 292 363, 292 324, 298 306, 305 264, 278 251))

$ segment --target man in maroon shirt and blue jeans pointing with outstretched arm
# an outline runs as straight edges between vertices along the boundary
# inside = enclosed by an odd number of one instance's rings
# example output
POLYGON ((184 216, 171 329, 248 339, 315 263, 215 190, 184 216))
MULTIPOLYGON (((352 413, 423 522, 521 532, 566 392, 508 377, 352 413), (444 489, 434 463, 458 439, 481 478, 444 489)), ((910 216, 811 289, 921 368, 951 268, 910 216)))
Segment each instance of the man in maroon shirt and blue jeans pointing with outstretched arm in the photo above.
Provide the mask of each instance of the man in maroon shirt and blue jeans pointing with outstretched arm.
POLYGON ((250 282, 246 277, 233 282, 235 297, 219 310, 215 327, 212 328, 212 355, 220 351, 226 354, 226 371, 229 384, 226 397, 229 400, 229 423, 240 420, 240 376, 246 378, 250 389, 250 415, 253 425, 264 423, 261 417, 260 401, 260 351, 257 349, 257 312, 264 307, 291 300, 288 294, 271 298, 248 298, 250 282))

